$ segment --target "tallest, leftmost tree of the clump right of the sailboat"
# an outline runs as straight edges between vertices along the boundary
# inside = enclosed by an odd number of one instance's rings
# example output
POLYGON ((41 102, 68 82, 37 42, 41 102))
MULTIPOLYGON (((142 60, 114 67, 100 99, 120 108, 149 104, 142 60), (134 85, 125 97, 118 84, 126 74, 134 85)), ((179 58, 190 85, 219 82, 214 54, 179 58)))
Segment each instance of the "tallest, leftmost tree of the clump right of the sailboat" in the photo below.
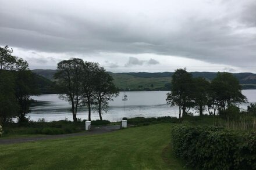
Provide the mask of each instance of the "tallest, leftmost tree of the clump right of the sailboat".
POLYGON ((172 75, 171 92, 167 93, 166 102, 171 106, 179 106, 179 118, 186 115, 193 107, 193 78, 186 69, 177 69, 172 75))

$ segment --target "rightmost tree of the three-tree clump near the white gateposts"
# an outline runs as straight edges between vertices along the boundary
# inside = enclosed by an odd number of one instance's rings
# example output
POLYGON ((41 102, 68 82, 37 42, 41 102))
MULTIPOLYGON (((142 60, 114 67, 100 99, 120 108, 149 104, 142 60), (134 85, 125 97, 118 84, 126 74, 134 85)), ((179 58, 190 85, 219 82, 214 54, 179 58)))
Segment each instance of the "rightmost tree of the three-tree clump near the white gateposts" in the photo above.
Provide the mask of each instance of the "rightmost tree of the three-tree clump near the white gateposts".
POLYGON ((113 84, 112 76, 106 73, 104 68, 101 68, 95 76, 97 78, 94 81, 94 104, 99 113, 99 118, 102 120, 102 110, 107 110, 109 101, 118 96, 119 92, 113 84))

